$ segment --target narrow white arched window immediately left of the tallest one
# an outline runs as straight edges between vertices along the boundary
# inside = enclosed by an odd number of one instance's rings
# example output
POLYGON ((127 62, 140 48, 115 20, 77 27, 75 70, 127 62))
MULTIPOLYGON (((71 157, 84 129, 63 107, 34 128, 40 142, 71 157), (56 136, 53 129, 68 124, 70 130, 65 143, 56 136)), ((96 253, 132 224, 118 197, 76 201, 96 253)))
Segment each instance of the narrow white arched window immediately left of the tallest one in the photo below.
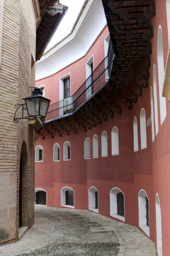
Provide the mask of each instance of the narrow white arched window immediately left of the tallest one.
POLYGON ((154 82, 154 122, 155 122, 155 133, 157 135, 159 126, 158 126, 158 109, 157 109, 157 74, 156 74, 155 65, 153 68, 153 82, 154 82))

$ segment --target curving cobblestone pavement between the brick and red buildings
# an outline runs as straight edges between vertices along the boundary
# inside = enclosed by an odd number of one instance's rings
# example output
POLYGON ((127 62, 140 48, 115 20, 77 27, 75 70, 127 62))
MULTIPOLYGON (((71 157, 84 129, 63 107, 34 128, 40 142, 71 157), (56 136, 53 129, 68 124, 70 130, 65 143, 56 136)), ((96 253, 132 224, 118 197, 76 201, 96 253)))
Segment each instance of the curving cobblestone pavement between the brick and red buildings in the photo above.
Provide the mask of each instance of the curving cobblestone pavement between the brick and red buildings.
POLYGON ((154 242, 134 226, 89 210, 35 208, 35 225, 1 256, 152 256, 154 242))

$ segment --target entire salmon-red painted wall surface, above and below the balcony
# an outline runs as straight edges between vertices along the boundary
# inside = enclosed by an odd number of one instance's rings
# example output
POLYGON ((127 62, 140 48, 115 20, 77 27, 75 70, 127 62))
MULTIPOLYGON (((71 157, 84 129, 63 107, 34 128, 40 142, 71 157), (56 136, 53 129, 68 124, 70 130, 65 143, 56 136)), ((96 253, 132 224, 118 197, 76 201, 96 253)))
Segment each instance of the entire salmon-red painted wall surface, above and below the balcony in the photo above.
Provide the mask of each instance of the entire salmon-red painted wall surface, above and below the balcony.
MULTIPOLYGON (((149 87, 142 90, 142 97, 138 97, 137 104, 132 110, 124 105, 123 113, 115 114, 114 119, 88 130, 86 133, 79 130, 78 134, 50 139, 46 134, 45 140, 40 137, 35 146, 41 144, 44 148, 44 161, 35 163, 35 187, 47 189, 48 206, 60 206, 60 190, 64 186, 74 189, 75 208, 88 209, 88 191, 91 186, 98 190, 99 213, 110 216, 110 191, 114 187, 120 188, 125 196, 125 223, 136 225, 139 228, 138 217, 138 193, 144 189, 149 198, 149 233, 150 238, 157 244, 156 232, 156 208, 155 198, 159 194, 162 209, 162 239, 163 255, 169 256, 170 252, 170 105, 166 101, 166 119, 160 124, 159 111, 159 80, 157 70, 157 33, 159 24, 162 25, 164 43, 164 68, 168 53, 168 34, 166 24, 166 1, 156 0, 156 16, 152 18, 154 37, 152 38, 152 55, 149 77, 149 87), (157 97, 159 132, 152 142, 152 125, 147 126, 147 149, 140 149, 140 110, 146 111, 146 119, 151 117, 150 87, 153 89, 153 66, 157 70, 157 97), (133 119, 137 117, 139 151, 133 151, 133 119), (120 154, 111 156, 111 130, 116 126, 119 131, 120 154), (108 156, 101 157, 101 134, 108 134, 108 156), (98 135, 98 159, 93 159, 93 137, 98 135), (84 139, 91 140, 91 159, 84 159, 84 139), (63 161, 63 144, 69 141, 71 144, 71 160, 63 161), (55 143, 60 144, 60 161, 52 161, 52 149, 55 143)), ((37 85, 45 84, 46 97, 51 97, 52 102, 57 101, 58 89, 55 81, 65 73, 71 72, 72 93, 86 80, 86 61, 94 55, 95 67, 104 57, 104 41, 108 34, 107 28, 103 31, 98 41, 94 43, 89 52, 72 63, 69 67, 49 78, 39 80, 37 85), (100 53, 100 54, 99 54, 100 53), (52 90, 48 92, 48 90, 52 90)), ((94 68, 95 68, 94 67, 94 68)), ((155 134, 155 132, 154 132, 155 134)), ((112 217, 111 217, 112 218, 112 217)))

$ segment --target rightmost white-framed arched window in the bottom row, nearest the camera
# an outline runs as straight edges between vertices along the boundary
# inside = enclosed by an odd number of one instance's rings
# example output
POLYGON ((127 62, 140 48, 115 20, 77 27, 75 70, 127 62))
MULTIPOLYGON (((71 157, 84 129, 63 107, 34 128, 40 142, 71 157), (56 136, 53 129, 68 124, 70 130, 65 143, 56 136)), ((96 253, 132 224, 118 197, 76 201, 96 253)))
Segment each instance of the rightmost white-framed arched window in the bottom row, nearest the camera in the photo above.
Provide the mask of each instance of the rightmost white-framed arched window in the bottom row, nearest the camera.
POLYGON ((159 195, 156 195, 156 224, 157 224, 157 252, 158 256, 162 256, 162 213, 159 201, 159 195))

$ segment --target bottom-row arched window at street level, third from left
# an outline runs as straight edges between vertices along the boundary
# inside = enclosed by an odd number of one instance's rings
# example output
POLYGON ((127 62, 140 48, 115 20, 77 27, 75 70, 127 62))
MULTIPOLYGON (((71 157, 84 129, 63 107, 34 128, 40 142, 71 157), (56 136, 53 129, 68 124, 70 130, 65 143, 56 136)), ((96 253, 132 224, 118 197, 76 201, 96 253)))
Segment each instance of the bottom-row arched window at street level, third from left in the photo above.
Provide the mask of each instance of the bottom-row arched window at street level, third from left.
POLYGON ((94 186, 89 188, 89 210, 94 210, 98 213, 98 191, 94 186))

